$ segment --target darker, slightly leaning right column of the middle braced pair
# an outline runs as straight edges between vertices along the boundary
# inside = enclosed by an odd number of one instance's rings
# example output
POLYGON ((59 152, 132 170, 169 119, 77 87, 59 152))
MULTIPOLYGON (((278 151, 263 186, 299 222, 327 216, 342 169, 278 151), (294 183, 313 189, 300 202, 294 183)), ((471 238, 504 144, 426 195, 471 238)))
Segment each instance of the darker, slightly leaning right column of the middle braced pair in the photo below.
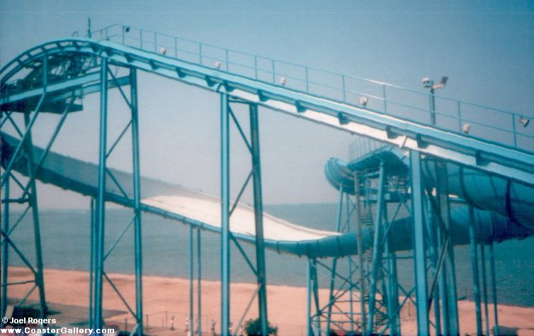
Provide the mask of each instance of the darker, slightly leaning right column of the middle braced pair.
POLYGON ((252 169, 254 169, 254 219, 256 224, 256 270, 258 272, 258 304, 262 335, 267 335, 267 284, 265 265, 265 244, 263 242, 263 200, 261 193, 261 161, 258 105, 250 104, 250 138, 252 147, 252 169))

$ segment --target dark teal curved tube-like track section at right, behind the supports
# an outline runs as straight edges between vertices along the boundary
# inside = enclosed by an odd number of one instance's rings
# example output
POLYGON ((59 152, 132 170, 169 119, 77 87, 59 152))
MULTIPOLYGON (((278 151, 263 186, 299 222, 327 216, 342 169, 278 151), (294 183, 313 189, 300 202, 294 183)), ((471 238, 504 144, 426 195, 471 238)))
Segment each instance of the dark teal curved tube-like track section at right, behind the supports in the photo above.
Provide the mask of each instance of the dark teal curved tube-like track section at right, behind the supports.
MULTIPOLYGON (((380 162, 385 162, 388 171, 392 174, 408 174, 409 163, 407 155, 391 146, 380 147, 369 152, 352 162, 343 162, 340 159, 331 158, 325 164, 326 179, 335 189, 343 189, 343 192, 354 194, 353 172, 377 169, 380 162)), ((435 186, 436 181, 431 177, 433 164, 424 160, 423 164, 426 183, 435 186)), ((513 238, 527 237, 534 234, 534 201, 531 195, 534 186, 517 183, 511 179, 504 179, 490 174, 484 174, 474 169, 467 169, 448 162, 448 191, 450 194, 477 208, 475 220, 479 225, 479 237, 481 242, 508 240, 513 238)), ((468 243, 468 209, 467 206, 455 206, 451 213, 453 221, 453 242, 455 244, 468 243)), ((402 221, 398 220, 392 225, 392 234, 395 236, 395 226, 402 221)), ((408 226, 408 223, 406 223, 408 226)), ((402 247, 401 239, 395 239, 392 244, 394 249, 402 247)))

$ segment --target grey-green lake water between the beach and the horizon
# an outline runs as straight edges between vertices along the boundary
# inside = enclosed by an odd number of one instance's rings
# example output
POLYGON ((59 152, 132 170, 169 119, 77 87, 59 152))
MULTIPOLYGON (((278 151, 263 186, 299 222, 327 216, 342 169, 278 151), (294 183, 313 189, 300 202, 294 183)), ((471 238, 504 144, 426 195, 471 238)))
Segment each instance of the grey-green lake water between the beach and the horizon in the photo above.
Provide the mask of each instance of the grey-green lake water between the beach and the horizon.
MULTIPOLYGON (((311 228, 333 230, 336 204, 291 204, 266 206, 266 211, 292 223, 311 228)), ((106 211, 106 250, 132 217, 132 211, 113 208, 106 211)), ((18 216, 12 214, 11 223, 18 216)), ((89 268, 89 218, 87 210, 41 211, 42 246, 45 267, 87 270, 89 268)), ((13 239, 33 260, 33 226, 30 213, 13 232, 13 239)), ((189 228, 174 220, 143 214, 144 274, 188 277, 189 228)), ((254 260, 254 247, 243 244, 254 260)), ((494 247, 496 285, 499 303, 534 306, 534 237, 501 242, 494 247)), ((403 252, 411 255, 411 252, 403 252)), ((220 236, 202 232, 203 278, 220 279, 220 236)), ((254 282, 254 277, 237 248, 232 244, 232 281, 254 282)), ((400 255, 400 254, 399 254, 400 255)), ((23 262, 11 253, 10 264, 23 262)), ((469 246, 455 247, 458 296, 472 298, 472 275, 469 246)), ((330 263, 329 259, 324 262, 330 263)), ((306 259, 268 251, 266 254, 269 284, 306 286, 306 259)), ((339 262, 341 267, 348 262, 339 262)), ((488 264, 488 284, 491 284, 488 264)), ((130 228, 106 261, 106 271, 133 274, 133 230, 130 228)), ((399 261, 399 282, 413 283, 411 261, 399 261)), ((319 273, 321 287, 328 286, 325 271, 319 273)), ((491 287, 488 286, 490 294, 491 287)))

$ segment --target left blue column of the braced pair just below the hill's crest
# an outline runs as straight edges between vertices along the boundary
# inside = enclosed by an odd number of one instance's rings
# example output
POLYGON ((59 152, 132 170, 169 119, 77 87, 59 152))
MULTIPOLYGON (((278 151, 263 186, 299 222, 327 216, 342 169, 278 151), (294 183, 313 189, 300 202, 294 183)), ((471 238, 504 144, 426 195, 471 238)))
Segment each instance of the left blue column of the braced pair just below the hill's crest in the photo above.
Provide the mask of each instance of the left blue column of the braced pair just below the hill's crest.
POLYGON ((104 272, 104 227, 106 199, 106 152, 108 119, 108 59, 101 57, 100 72, 100 140, 98 159, 98 198, 96 199, 96 271, 95 271, 95 313, 93 328, 102 328, 102 289, 104 272))

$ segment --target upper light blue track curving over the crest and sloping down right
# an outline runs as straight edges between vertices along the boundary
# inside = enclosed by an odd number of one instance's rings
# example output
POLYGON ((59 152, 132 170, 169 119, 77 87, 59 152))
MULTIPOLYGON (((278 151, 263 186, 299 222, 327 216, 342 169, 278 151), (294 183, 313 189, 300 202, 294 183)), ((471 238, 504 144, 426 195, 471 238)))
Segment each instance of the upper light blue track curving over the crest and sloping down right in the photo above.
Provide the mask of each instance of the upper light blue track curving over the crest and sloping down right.
MULTIPOLYGON (((113 64, 136 67, 210 91, 225 92, 259 106, 306 118, 352 134, 364 135, 407 150, 417 150, 529 184, 534 181, 534 155, 531 152, 523 152, 488 140, 470 138, 385 115, 369 108, 324 99, 284 86, 268 84, 107 40, 95 42, 89 39, 66 39, 34 47, 1 69, 1 84, 5 84, 18 70, 42 59, 43 55, 58 53, 105 56, 113 64)), ((6 98, 2 97, 1 103, 4 102, 7 102, 6 98)))

